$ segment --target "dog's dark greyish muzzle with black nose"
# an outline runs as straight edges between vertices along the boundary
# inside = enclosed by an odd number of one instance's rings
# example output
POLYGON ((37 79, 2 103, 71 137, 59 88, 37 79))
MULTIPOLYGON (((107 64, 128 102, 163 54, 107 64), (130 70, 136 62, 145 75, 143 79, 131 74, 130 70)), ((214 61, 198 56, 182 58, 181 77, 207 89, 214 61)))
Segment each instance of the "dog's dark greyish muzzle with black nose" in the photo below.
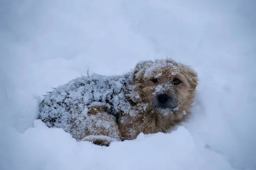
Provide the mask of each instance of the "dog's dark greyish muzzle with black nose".
POLYGON ((153 100, 154 108, 175 110, 178 106, 178 100, 175 97, 171 97, 168 94, 158 94, 153 100))

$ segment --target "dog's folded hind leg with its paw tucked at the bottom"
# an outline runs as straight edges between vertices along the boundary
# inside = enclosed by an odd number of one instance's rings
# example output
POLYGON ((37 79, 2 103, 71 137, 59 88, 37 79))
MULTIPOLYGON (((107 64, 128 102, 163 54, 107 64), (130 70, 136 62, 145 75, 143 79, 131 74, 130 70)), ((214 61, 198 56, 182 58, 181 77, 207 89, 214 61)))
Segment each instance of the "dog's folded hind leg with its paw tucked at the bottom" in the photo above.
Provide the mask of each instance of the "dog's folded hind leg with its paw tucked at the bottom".
POLYGON ((106 107, 90 106, 85 119, 83 141, 108 146, 113 141, 120 141, 120 132, 116 118, 107 113, 106 107))

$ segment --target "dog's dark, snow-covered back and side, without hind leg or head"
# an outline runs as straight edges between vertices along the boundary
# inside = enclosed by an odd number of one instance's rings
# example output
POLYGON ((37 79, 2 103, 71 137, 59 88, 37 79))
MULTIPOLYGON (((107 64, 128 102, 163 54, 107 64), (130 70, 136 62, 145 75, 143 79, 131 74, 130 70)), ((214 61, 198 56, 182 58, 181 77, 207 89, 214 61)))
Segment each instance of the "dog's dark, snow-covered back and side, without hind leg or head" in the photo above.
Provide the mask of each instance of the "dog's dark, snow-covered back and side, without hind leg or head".
MULTIPOLYGON (((84 137, 88 126, 88 111, 98 108, 118 118, 119 112, 127 111, 128 86, 132 73, 121 76, 78 77, 49 92, 40 104, 39 119, 48 127, 58 127, 75 139, 84 137)), ((101 120, 99 120, 101 121, 101 120)))

